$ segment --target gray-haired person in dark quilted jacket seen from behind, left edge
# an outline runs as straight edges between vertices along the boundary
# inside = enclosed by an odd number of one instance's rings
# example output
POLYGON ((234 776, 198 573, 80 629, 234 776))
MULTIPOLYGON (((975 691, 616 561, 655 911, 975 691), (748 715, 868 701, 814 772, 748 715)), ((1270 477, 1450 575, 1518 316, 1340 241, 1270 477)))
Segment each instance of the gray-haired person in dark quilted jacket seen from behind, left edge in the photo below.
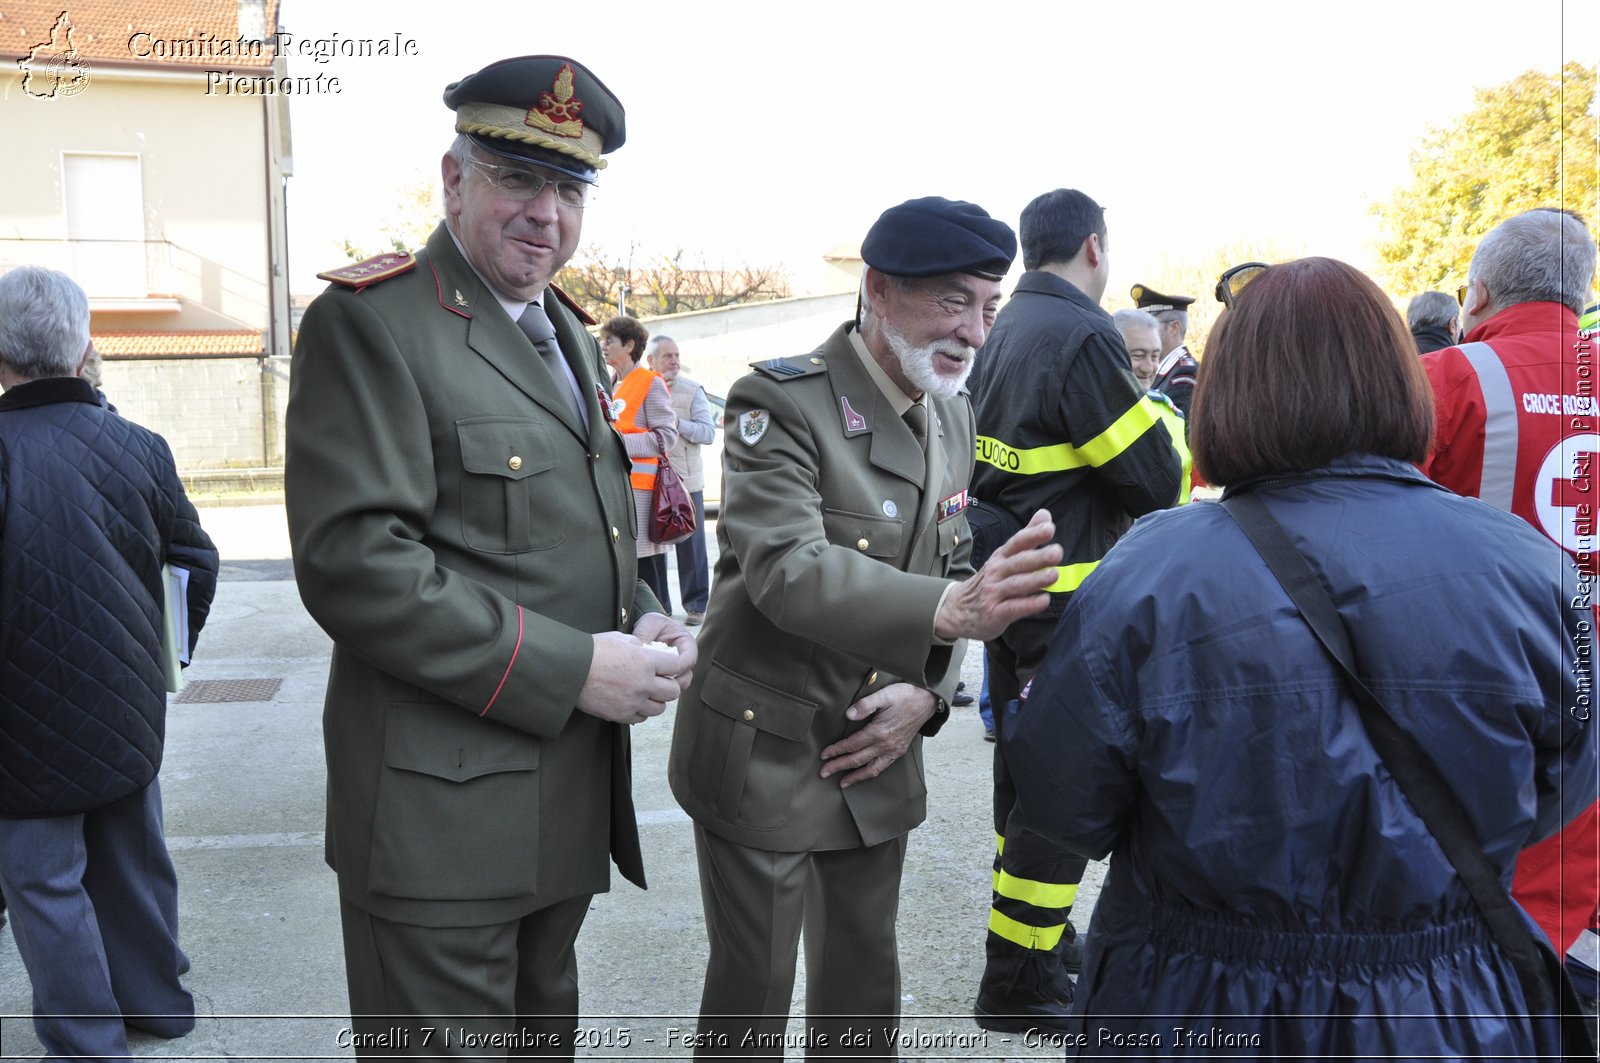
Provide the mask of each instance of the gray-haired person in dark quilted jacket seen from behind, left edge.
POLYGON ((189 572, 189 648, 216 548, 166 442, 78 373, 83 290, 0 277, 0 890, 50 1057, 128 1058, 123 1023, 194 1028, 155 775, 163 573, 189 572))

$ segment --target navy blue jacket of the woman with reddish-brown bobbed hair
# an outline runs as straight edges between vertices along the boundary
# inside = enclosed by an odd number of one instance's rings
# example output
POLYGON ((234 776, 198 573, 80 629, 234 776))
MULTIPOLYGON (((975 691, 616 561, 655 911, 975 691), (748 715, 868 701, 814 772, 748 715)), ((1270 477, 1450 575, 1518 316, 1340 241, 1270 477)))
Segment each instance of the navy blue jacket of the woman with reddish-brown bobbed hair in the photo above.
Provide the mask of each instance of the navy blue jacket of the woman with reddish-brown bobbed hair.
MULTIPOLYGON (((1509 884, 1517 853, 1597 791, 1576 682, 1592 658, 1574 653, 1592 615, 1568 608, 1563 552, 1387 458, 1234 490, 1307 554, 1368 685, 1435 754, 1509 884)), ((1027 824, 1110 853, 1074 1005, 1088 1045, 1109 1029, 1190 1055, 1555 1050, 1221 506, 1134 523, 1072 599, 1006 741, 1027 824)))

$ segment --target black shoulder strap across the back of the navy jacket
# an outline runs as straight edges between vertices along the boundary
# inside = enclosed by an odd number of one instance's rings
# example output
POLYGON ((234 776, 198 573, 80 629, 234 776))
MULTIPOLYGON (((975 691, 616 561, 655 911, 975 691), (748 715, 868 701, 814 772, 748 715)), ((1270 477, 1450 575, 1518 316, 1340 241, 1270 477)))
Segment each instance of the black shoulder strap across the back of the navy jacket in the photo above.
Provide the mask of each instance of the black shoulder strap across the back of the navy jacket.
POLYGON ((1416 738, 1395 722, 1378 695, 1355 671, 1350 634, 1328 596, 1328 588, 1317 578, 1310 562, 1290 541, 1283 525, 1261 498, 1234 495, 1222 501, 1222 509, 1238 522, 1256 552, 1267 562, 1267 568, 1283 584, 1283 591, 1294 602, 1312 634, 1317 636, 1317 642, 1339 666, 1355 695, 1357 706, 1360 706, 1366 736, 1389 768, 1400 792, 1411 802, 1422 824, 1445 850, 1456 874, 1466 882, 1467 892, 1483 913, 1494 940, 1517 967, 1517 977, 1530 1009, 1534 1013, 1555 1010, 1555 997, 1539 945, 1533 940, 1528 924, 1517 914, 1515 903, 1506 892, 1506 884, 1501 882, 1483 853, 1483 845, 1474 836, 1450 783, 1416 738))

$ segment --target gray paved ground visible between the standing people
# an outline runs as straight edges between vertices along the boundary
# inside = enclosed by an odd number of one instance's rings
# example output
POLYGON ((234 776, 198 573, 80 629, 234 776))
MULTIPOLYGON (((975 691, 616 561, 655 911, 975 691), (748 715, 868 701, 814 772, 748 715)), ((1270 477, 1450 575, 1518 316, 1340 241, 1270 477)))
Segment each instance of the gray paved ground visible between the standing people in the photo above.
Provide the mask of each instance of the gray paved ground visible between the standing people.
MULTIPOLYGON (((192 685, 168 714, 162 768, 181 937, 194 961, 186 981, 200 1021, 181 1041, 139 1034, 133 1050, 192 1060, 349 1058, 334 879, 322 861, 330 644, 301 608, 282 506, 210 507, 202 519, 222 551, 222 583, 189 669, 192 685), (205 693, 197 680, 267 682, 211 688, 254 700, 190 701, 205 693), (272 680, 280 682, 269 692, 272 680)), ((979 653, 968 655, 965 676, 976 692, 979 653)), ((594 1029, 584 1058, 688 1057, 669 1031, 694 1028, 706 935, 690 823, 667 791, 670 722, 669 711, 634 728, 651 887, 640 892, 616 877, 579 940, 594 1029)), ((899 917, 904 1058, 1061 1055, 984 1034, 970 1018, 989 906, 992 749, 976 708, 955 709, 944 733, 925 744, 930 815, 912 834, 899 917)), ((1099 872, 1091 864, 1080 913, 1093 905, 1099 872)), ((27 975, 8 929, 0 932, 0 1060, 38 1057, 29 1015, 27 975)))

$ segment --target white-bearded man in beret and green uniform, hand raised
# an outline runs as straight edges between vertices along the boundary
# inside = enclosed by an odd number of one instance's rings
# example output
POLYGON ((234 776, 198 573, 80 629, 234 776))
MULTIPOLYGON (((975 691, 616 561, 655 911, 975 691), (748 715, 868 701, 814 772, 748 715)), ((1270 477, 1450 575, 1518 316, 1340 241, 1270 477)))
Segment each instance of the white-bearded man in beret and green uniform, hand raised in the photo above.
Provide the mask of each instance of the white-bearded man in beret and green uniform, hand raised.
POLYGON ((670 760, 710 938, 698 1055, 782 1057, 802 932, 810 1052, 894 1052, 920 736, 963 639, 1043 608, 1059 560, 1045 514, 981 573, 968 560, 962 386, 1014 253, 973 203, 894 207, 861 248, 859 319, 728 394, 717 578, 670 760))

